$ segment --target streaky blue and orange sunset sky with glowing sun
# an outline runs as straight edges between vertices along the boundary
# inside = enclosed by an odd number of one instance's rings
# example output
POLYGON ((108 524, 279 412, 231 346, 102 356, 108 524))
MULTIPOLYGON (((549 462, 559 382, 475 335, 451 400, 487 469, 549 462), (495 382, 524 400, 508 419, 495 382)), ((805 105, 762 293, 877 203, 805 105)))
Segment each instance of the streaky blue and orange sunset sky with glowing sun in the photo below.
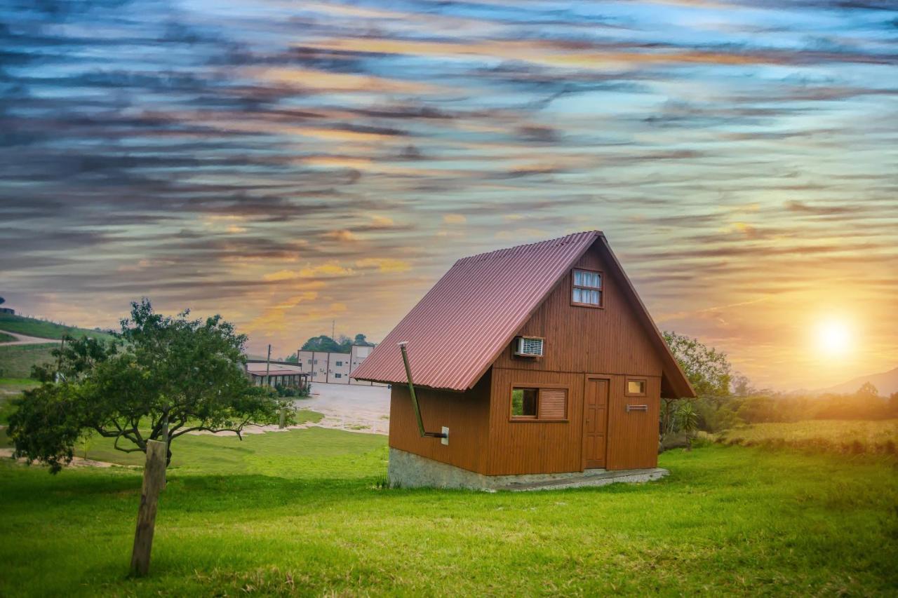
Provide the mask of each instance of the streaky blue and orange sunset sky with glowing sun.
POLYGON ((7 0, 0 295, 263 353, 380 340, 455 259, 602 230, 759 386, 898 365, 890 0, 7 0))

